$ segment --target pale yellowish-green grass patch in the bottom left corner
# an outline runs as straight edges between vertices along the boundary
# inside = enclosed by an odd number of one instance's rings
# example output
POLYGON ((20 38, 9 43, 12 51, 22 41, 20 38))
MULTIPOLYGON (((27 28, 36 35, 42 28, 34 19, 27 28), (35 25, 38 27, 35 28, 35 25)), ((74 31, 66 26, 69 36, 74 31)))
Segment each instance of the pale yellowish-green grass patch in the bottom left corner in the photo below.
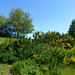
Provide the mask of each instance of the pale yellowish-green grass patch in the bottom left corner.
POLYGON ((11 68, 11 65, 0 64, 0 75, 11 75, 10 68, 11 68))

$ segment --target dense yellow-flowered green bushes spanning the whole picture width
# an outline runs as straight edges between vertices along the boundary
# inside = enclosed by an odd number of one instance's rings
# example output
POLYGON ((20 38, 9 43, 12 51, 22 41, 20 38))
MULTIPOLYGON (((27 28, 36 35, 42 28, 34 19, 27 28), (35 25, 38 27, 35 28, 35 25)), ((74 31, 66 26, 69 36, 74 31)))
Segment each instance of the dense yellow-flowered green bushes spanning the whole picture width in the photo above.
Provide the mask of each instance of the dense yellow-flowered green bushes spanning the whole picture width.
POLYGON ((75 69, 74 38, 50 31, 33 37, 1 43, 0 63, 12 64, 13 75, 61 75, 60 68, 75 69))

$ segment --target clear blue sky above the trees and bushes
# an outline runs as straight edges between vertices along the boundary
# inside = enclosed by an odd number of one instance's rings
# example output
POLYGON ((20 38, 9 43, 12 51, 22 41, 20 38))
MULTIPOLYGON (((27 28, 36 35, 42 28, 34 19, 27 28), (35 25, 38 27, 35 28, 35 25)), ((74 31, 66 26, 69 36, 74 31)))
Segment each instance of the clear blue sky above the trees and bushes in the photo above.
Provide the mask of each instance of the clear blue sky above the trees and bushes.
POLYGON ((36 31, 67 33, 75 19, 75 0, 0 0, 0 14, 8 17, 12 8, 29 12, 36 31))

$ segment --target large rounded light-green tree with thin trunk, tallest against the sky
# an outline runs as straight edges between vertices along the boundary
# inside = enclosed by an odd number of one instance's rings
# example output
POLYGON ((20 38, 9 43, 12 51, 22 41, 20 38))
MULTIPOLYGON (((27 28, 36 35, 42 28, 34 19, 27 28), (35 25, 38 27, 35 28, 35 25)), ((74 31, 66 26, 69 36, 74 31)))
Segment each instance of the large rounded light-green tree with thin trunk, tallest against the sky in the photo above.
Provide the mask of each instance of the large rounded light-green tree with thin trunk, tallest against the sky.
POLYGON ((20 33, 28 34, 34 31, 30 14, 23 12, 20 8, 11 10, 7 24, 10 27, 10 31, 17 32, 17 37, 20 33))

